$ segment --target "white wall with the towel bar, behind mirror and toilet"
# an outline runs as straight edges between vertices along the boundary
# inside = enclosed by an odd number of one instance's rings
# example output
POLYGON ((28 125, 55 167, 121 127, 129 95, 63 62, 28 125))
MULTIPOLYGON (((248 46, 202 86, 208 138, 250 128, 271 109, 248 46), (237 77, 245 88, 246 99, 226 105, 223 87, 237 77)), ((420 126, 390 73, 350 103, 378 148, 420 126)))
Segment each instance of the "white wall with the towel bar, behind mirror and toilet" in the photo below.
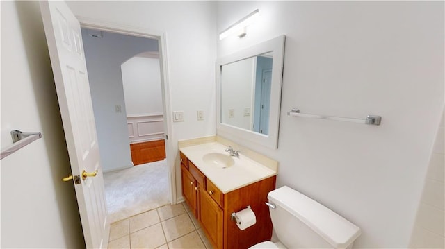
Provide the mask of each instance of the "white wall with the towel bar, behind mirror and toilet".
POLYGON ((444 104, 443 2, 218 1, 218 56, 286 35, 277 151, 284 184, 362 228, 356 248, 407 248, 444 104), (382 116, 382 125, 286 112, 382 116))

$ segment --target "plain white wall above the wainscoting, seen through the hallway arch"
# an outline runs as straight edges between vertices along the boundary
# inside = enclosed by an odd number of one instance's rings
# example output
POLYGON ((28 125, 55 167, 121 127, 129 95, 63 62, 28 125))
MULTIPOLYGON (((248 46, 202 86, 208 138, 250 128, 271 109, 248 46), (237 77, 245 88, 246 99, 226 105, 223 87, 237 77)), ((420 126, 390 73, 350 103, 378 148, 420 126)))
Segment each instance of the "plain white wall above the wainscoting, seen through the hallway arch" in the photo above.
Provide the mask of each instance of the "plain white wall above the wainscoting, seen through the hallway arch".
POLYGON ((127 117, 163 113, 159 58, 135 56, 121 69, 127 117))

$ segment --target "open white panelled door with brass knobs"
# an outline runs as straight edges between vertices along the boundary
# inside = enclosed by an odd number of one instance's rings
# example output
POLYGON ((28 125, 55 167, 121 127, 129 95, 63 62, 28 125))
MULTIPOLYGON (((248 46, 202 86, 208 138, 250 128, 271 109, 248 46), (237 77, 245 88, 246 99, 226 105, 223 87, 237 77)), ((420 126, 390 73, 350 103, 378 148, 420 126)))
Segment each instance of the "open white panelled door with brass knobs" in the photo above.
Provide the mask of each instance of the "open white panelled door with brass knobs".
POLYGON ((63 1, 42 1, 40 9, 86 247, 106 248, 110 225, 81 27, 63 1), (83 171, 90 176, 83 178, 83 171))

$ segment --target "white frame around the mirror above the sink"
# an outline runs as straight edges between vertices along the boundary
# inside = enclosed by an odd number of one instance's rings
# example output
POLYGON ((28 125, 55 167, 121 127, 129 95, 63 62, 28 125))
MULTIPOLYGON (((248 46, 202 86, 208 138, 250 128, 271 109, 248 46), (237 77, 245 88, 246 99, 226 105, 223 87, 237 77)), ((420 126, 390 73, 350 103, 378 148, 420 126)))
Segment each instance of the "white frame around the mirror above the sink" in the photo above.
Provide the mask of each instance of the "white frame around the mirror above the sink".
POLYGON ((216 60, 216 134, 226 137, 243 146, 261 145, 276 149, 278 147, 278 128, 280 125, 281 88, 284 65, 284 42, 280 35, 266 42, 261 42, 247 49, 216 60), (264 53, 273 53, 272 82, 270 87, 269 132, 264 135, 252 130, 245 130, 226 123, 221 123, 221 71, 223 65, 252 58, 264 53))

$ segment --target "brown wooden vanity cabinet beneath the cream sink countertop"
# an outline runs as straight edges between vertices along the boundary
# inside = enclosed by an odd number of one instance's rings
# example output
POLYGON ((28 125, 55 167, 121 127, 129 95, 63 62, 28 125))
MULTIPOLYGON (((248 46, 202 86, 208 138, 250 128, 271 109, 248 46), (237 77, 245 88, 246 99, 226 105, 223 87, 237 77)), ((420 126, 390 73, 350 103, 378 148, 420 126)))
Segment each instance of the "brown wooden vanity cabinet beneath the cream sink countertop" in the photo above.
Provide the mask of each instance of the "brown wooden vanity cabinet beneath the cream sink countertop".
POLYGON ((264 203, 275 189, 275 175, 223 194, 184 154, 180 156, 182 194, 214 248, 243 249, 270 240, 272 221, 264 203), (231 216, 248 205, 257 216, 257 223, 240 230, 231 216))

